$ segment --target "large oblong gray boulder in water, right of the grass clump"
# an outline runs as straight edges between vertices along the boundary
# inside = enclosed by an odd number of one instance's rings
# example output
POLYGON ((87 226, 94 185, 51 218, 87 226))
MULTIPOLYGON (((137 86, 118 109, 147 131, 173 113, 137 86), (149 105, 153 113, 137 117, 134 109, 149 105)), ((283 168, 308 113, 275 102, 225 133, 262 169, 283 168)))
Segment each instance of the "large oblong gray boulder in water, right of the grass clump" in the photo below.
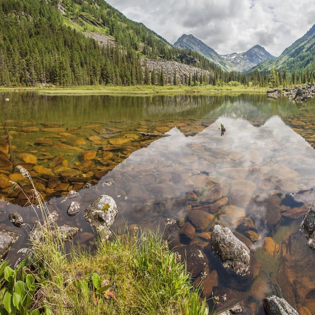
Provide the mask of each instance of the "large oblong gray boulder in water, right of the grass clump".
POLYGON ((250 274, 250 250, 229 228, 219 224, 213 227, 211 249, 218 255, 224 268, 240 276, 250 274))

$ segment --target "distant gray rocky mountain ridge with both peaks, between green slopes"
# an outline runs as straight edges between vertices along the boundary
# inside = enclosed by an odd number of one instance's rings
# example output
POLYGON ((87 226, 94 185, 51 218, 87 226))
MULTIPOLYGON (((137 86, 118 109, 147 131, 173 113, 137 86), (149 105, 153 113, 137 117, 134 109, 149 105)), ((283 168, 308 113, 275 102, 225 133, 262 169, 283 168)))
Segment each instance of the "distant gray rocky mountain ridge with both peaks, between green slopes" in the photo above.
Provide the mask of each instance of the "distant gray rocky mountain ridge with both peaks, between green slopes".
POLYGON ((231 53, 227 55, 219 55, 214 49, 207 46, 200 39, 193 35, 182 35, 175 43, 175 47, 191 49, 198 51, 200 54, 208 58, 210 61, 221 66, 227 71, 246 71, 256 66, 262 61, 274 58, 265 48, 256 45, 246 52, 231 53))

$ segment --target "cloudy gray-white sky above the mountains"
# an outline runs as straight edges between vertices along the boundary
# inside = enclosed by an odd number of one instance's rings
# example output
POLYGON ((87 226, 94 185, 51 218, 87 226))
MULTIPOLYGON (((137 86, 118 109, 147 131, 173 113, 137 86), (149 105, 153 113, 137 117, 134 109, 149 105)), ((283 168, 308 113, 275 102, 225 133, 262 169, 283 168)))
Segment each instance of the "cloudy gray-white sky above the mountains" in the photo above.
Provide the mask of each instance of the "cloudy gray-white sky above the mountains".
POLYGON ((279 56, 315 24, 313 0, 106 0, 174 43, 192 34, 219 54, 258 44, 279 56))

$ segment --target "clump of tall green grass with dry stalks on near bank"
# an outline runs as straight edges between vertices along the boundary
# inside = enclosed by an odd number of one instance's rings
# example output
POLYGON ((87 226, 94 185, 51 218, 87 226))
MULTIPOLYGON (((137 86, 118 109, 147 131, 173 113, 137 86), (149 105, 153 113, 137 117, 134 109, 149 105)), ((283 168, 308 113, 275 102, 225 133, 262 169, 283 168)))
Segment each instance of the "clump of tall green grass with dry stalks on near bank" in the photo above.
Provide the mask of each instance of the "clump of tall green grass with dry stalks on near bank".
POLYGON ((111 240, 97 239, 95 255, 73 244, 66 250, 64 238, 58 237, 58 226, 49 222, 47 206, 29 173, 19 170, 31 181, 41 214, 41 234, 32 240, 29 255, 39 283, 33 309, 60 315, 208 314, 185 265, 169 251, 158 231, 130 234, 126 229, 111 240))

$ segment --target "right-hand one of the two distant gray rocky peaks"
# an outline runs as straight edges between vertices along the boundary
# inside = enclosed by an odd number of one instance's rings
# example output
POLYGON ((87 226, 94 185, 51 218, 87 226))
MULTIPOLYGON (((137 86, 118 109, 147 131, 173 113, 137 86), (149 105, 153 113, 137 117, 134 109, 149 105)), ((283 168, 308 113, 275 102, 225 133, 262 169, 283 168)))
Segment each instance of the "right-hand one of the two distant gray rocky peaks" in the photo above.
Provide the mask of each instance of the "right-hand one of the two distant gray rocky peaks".
POLYGON ((249 70, 265 60, 275 58, 264 47, 259 45, 255 45, 246 52, 234 52, 228 55, 222 55, 222 57, 232 64, 234 70, 241 72, 249 70))

